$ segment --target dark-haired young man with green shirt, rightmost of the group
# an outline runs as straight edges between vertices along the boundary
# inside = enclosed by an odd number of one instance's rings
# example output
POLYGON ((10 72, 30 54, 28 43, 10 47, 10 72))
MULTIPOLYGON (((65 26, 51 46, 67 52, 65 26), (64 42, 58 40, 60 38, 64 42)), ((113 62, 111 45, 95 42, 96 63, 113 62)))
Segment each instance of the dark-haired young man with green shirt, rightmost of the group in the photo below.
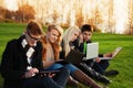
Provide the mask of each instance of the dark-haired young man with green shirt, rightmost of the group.
MULTIPOLYGON (((91 41, 92 33, 93 33, 93 29, 91 25, 84 24, 81 28, 81 37, 80 37, 81 43, 80 43, 80 46, 78 47, 80 50, 80 52, 86 54, 86 44, 92 43, 92 41, 91 41)), ((112 56, 112 53, 99 54, 99 57, 103 57, 103 58, 111 57, 111 56, 112 56)), ((104 75, 106 73, 105 69, 109 67, 110 63, 109 63, 109 59, 101 61, 99 57, 94 58, 94 61, 90 63, 90 66, 98 73, 104 75)), ((113 73, 112 73, 112 75, 113 75, 113 73)))

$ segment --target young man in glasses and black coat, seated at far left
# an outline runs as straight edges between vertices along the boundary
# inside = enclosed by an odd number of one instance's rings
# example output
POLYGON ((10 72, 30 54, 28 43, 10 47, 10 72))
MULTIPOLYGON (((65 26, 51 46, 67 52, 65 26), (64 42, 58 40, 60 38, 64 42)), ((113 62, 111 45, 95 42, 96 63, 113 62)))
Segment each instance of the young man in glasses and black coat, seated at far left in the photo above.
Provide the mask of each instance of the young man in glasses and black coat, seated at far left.
POLYGON ((39 76, 43 69, 42 45, 39 42, 43 32, 31 21, 18 40, 8 42, 1 61, 3 88, 63 88, 69 77, 66 68, 59 69, 55 76, 39 76))

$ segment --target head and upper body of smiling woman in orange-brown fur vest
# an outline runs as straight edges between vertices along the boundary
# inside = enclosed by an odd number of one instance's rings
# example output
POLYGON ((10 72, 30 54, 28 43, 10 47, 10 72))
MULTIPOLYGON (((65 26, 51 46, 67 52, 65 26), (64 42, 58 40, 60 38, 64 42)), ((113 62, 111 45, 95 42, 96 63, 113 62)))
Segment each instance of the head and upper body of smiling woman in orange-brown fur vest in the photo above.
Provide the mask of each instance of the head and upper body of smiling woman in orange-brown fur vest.
POLYGON ((44 67, 49 67, 59 59, 59 53, 61 51, 60 43, 62 41, 63 30, 57 25, 51 24, 47 29, 47 34, 42 37, 42 61, 44 67))

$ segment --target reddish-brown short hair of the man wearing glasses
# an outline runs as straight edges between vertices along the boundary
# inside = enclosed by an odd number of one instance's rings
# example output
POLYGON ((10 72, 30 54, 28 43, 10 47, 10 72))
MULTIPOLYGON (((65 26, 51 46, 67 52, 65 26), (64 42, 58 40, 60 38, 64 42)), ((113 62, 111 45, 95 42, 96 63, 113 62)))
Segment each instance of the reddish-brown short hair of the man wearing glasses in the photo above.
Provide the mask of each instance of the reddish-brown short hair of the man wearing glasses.
POLYGON ((25 30, 27 30, 27 32, 34 34, 34 35, 42 35, 43 34, 41 25, 35 21, 30 21, 28 23, 25 30))

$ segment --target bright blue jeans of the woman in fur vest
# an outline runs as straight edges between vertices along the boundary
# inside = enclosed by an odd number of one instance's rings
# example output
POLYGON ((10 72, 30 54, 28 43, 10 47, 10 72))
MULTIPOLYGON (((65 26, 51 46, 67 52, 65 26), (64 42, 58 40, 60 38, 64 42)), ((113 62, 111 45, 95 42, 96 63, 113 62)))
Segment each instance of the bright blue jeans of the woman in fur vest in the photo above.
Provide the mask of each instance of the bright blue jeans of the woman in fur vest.
POLYGON ((78 70, 78 68, 76 68, 74 65, 72 65, 72 64, 62 65, 62 64, 58 64, 58 63, 54 63, 52 66, 50 66, 50 67, 48 68, 48 70, 54 70, 54 69, 59 69, 59 68, 61 68, 61 67, 68 68, 68 69, 70 70, 70 74, 71 74, 71 75, 73 75, 73 73, 74 73, 75 70, 78 70))

